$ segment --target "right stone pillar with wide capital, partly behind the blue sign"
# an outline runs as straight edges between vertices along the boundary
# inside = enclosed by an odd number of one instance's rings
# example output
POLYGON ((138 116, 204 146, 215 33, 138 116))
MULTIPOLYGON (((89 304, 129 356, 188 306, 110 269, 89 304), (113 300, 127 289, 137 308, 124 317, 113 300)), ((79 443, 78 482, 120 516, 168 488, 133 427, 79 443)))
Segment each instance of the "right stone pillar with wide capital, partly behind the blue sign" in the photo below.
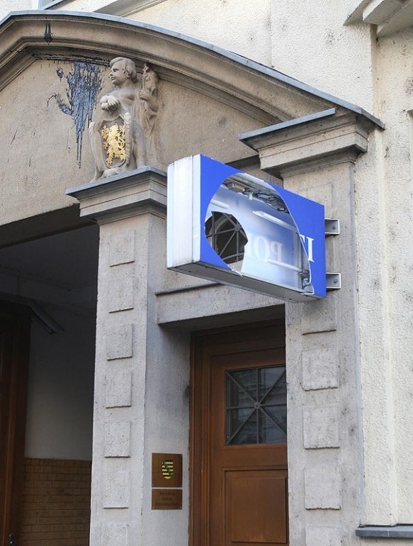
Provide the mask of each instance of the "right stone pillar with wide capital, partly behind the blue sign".
POLYGON ((324 204, 341 231, 327 238, 327 272, 342 288, 327 298, 287 303, 290 544, 359 543, 363 449, 357 313, 353 168, 367 150, 370 121, 335 113, 244 135, 261 168, 286 189, 324 204))

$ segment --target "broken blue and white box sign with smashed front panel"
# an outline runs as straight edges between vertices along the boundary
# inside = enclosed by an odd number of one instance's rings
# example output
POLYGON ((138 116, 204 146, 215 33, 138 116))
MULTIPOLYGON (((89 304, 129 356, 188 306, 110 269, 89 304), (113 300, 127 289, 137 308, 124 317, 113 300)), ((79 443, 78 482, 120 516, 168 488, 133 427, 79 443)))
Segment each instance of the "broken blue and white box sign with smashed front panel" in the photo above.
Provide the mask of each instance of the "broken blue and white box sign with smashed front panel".
POLYGON ((324 206, 203 155, 168 168, 167 267, 287 301, 326 295, 324 206))

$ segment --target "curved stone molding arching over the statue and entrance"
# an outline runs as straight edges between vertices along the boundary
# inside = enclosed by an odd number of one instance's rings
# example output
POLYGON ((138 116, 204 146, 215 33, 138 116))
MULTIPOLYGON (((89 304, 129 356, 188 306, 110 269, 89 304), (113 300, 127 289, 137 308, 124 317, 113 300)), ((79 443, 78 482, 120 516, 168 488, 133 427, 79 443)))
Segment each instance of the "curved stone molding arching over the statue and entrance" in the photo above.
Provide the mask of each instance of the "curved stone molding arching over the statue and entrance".
POLYGON ((159 77, 193 89, 264 124, 336 106, 378 122, 341 101, 244 57, 180 33, 100 13, 12 12, 0 25, 0 90, 39 58, 108 63, 120 55, 149 62, 159 77), (45 38, 50 25, 51 40, 45 38))

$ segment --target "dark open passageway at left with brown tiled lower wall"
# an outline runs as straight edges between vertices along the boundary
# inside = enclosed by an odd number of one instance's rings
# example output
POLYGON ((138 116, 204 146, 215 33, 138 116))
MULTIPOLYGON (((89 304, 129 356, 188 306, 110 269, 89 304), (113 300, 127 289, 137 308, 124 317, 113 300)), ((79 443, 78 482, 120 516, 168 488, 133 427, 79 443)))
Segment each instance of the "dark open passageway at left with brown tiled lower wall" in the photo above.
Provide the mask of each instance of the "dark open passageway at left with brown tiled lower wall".
MULTIPOLYGON (((0 249, 0 301, 26 309, 26 338, 15 348, 28 362, 13 372, 26 376, 27 391, 22 379, 19 400, 6 408, 2 395, 0 406, 20 439, 0 459, 0 475, 17 479, 13 494, 9 481, 1 489, 0 546, 10 533, 18 546, 89 544, 97 267, 95 225, 0 249)), ((13 392, 12 374, 4 378, 13 392)))

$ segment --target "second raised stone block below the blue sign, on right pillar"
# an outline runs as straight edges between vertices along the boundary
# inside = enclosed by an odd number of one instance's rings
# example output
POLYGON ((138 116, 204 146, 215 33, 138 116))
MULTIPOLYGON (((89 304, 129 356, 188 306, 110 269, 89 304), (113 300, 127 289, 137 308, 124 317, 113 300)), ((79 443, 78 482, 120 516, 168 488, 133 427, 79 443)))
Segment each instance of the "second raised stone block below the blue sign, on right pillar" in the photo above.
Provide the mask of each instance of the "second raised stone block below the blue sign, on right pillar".
POLYGON ((319 347, 302 352, 302 388, 305 391, 339 386, 336 347, 319 347))

